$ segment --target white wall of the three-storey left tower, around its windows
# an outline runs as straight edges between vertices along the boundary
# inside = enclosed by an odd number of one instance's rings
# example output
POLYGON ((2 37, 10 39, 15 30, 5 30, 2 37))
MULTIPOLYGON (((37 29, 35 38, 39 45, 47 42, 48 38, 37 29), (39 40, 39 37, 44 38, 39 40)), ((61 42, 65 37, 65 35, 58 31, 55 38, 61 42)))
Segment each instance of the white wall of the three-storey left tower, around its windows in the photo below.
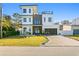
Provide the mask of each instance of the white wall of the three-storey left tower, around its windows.
POLYGON ((21 24, 22 24, 22 29, 21 33, 24 34, 23 28, 26 27, 26 32, 31 32, 32 31, 32 24, 33 24, 33 14, 37 13, 37 6, 21 6, 21 24), (26 13, 23 13, 23 9, 26 9, 26 13), (31 13, 29 13, 29 9, 31 9, 31 13), (24 18, 26 18, 26 22, 24 22, 24 18), (31 21, 29 21, 29 18, 31 18, 31 21), (29 31, 31 29, 31 31, 29 31))

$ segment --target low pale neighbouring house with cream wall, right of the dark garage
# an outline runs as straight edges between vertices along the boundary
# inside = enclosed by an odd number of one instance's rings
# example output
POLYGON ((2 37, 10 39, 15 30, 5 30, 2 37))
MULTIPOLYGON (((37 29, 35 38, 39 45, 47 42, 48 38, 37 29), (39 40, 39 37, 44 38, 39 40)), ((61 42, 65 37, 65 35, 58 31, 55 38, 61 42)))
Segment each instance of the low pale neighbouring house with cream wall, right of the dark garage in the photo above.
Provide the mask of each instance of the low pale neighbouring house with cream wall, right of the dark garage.
POLYGON ((64 20, 60 22, 60 34, 61 35, 73 35, 73 30, 71 26, 71 22, 68 20, 64 20))

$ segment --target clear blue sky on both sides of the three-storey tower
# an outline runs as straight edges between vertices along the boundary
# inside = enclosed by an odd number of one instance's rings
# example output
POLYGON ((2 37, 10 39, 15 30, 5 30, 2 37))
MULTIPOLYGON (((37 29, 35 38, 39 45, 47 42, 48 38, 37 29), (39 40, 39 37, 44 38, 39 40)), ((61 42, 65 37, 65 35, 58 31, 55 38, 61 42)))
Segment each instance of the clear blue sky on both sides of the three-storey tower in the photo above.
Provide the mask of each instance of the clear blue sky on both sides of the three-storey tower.
MULTIPOLYGON (((19 5, 27 5, 27 3, 3 3, 3 12, 7 15, 20 13, 19 5)), ((78 3, 37 3, 38 11, 53 11, 54 21, 73 20, 79 17, 78 3)))

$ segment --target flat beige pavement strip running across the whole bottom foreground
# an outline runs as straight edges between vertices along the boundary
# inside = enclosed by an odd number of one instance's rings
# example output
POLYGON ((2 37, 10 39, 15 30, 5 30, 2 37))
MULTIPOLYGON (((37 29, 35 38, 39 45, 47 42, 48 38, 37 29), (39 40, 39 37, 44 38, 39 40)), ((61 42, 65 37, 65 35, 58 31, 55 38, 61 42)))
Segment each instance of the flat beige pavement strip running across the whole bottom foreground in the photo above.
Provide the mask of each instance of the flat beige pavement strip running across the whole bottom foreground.
POLYGON ((79 56, 79 47, 0 47, 0 56, 79 56))

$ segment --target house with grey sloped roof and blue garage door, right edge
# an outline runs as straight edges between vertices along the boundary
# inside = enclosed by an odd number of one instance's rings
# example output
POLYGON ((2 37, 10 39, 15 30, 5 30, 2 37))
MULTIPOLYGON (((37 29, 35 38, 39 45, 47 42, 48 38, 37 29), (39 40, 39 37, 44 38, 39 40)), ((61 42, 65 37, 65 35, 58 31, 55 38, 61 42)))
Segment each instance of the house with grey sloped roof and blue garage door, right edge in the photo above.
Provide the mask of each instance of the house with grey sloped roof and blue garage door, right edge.
POLYGON ((73 35, 79 34, 79 18, 72 21, 73 35))

